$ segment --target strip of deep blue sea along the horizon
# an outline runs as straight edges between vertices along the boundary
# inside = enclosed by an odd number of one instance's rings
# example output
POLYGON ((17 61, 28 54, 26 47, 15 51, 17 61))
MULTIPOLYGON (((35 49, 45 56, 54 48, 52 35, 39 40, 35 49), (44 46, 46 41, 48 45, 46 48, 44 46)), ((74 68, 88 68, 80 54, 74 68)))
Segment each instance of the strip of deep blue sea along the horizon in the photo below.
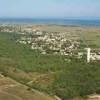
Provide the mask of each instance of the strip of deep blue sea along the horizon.
POLYGON ((0 23, 7 24, 57 24, 57 25, 85 25, 100 26, 99 20, 86 19, 32 19, 32 18, 0 18, 0 23))

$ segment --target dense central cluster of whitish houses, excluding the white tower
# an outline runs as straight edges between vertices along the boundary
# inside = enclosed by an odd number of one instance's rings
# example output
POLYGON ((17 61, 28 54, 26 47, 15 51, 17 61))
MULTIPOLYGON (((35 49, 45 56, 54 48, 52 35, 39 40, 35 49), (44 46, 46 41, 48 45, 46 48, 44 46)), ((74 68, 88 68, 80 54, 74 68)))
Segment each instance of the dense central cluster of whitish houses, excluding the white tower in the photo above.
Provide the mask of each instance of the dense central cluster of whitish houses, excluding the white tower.
POLYGON ((39 50, 42 54, 72 55, 80 46, 80 42, 70 39, 66 32, 34 31, 33 34, 23 35, 18 42, 31 45, 31 49, 39 50))

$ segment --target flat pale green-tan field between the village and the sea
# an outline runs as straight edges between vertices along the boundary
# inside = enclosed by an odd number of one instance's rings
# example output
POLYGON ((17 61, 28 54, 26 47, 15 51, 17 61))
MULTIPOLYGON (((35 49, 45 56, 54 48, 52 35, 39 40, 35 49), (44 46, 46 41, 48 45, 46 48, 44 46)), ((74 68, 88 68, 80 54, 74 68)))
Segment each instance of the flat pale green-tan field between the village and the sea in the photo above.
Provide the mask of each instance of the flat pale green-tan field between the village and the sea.
MULTIPOLYGON (((36 25, 37 29, 41 31, 50 32, 70 32, 72 35, 82 34, 88 45, 100 47, 100 27, 89 26, 58 26, 58 25, 36 25)), ((34 28, 33 27, 33 28, 34 28)), ((82 38, 80 36, 80 38, 82 38)))

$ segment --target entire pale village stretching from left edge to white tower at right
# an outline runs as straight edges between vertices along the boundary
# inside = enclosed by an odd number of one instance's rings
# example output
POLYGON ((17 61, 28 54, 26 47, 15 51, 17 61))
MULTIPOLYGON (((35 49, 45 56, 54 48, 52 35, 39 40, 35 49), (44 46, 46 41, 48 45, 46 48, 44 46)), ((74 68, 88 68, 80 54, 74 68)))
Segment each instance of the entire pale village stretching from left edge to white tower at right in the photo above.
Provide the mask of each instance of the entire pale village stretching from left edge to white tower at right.
POLYGON ((29 45, 32 50, 38 50, 43 55, 63 55, 78 59, 85 55, 87 62, 100 60, 100 50, 81 47, 81 39, 75 32, 48 32, 33 28, 32 25, 16 24, 0 25, 0 31, 20 34, 17 43, 29 45))

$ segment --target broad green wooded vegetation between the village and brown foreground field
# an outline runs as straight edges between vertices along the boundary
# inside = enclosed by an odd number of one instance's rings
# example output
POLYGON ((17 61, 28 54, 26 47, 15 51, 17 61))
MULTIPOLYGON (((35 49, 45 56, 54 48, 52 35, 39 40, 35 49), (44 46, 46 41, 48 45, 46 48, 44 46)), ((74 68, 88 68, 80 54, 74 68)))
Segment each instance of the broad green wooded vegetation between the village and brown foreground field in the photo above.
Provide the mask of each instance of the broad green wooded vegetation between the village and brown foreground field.
POLYGON ((87 64, 84 59, 41 55, 28 45, 17 43, 19 37, 15 33, 0 33, 0 71, 5 76, 63 100, 99 93, 100 62, 87 64))

